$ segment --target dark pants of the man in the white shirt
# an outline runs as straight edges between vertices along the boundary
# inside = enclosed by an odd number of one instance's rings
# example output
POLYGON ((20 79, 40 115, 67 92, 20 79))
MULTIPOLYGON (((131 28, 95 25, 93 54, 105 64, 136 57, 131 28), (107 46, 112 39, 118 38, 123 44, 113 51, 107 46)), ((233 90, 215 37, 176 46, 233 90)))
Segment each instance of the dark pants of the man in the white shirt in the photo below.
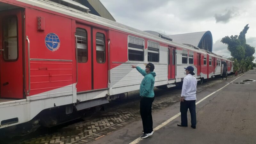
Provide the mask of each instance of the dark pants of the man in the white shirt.
POLYGON ((196 100, 184 100, 184 102, 180 102, 181 125, 188 126, 188 108, 191 115, 191 125, 196 126, 196 100))

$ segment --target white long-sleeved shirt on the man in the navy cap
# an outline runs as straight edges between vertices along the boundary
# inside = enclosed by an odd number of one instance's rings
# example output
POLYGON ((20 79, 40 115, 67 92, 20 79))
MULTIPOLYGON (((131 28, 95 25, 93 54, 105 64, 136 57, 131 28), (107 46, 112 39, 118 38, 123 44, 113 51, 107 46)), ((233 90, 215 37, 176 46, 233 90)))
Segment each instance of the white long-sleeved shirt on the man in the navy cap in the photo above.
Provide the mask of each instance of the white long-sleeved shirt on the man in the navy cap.
POLYGON ((188 74, 183 79, 181 97, 184 100, 196 100, 196 85, 197 81, 194 76, 188 74))

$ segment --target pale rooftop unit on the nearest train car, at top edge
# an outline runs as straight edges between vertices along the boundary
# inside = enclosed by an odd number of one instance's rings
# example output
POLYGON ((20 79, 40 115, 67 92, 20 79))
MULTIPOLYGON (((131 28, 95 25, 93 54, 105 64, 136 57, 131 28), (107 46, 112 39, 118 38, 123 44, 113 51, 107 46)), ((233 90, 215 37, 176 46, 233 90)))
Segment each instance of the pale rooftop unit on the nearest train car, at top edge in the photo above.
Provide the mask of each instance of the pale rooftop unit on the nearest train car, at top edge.
POLYGON ((87 12, 87 13, 90 11, 90 9, 88 7, 86 7, 80 3, 77 3, 74 0, 50 0, 50 1, 68 6, 70 8, 74 8, 79 11, 83 11, 83 12, 87 12))

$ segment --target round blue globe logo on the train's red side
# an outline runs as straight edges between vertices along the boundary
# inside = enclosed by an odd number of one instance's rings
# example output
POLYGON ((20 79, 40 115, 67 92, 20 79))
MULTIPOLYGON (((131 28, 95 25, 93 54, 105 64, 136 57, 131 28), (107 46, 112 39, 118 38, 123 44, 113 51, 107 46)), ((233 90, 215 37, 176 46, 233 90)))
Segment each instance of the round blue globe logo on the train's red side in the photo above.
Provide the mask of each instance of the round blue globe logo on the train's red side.
POLYGON ((60 47, 59 36, 54 33, 47 34, 45 36, 45 46, 52 52, 57 51, 60 47))

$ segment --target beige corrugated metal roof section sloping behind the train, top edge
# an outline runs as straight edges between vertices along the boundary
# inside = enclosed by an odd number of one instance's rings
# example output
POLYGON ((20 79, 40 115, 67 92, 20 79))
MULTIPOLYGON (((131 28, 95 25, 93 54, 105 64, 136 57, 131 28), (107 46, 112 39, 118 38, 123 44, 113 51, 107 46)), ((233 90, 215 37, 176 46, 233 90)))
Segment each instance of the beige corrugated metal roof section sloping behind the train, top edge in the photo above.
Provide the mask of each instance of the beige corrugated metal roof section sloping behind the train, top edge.
POLYGON ((110 14, 110 12, 108 12, 106 7, 100 2, 100 0, 87 0, 87 1, 100 14, 101 17, 106 18, 108 20, 116 21, 114 17, 110 14))

